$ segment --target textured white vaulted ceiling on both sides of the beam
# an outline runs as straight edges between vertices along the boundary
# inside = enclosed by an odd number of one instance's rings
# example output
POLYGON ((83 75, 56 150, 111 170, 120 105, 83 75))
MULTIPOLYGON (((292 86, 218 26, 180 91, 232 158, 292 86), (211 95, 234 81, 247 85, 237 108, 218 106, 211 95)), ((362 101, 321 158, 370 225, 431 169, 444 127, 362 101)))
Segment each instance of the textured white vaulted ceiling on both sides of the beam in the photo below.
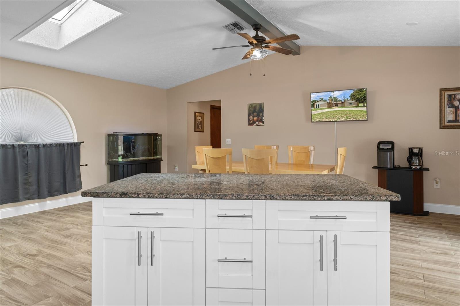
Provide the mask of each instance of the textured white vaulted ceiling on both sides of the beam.
MULTIPOLYGON (((246 43, 222 28, 241 20, 214 0, 107 1, 129 14, 60 51, 10 40, 63 2, 0 0, 0 56, 171 88, 239 65, 247 50, 211 50, 246 43)), ((460 45, 460 1, 248 2, 300 45, 460 45)))

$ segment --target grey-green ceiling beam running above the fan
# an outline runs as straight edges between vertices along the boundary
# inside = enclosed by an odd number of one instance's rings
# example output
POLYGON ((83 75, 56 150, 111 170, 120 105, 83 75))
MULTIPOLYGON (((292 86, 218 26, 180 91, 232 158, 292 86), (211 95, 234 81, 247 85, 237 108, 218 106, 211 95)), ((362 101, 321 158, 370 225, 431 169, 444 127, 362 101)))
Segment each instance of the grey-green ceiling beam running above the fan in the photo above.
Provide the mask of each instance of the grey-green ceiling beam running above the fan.
MULTIPOLYGON (((274 39, 276 37, 285 36, 279 28, 271 23, 267 18, 265 18, 259 11, 253 8, 245 0, 216 0, 226 9, 234 13, 236 16, 240 17, 245 22, 253 25, 255 23, 260 23, 262 26, 260 32, 262 32, 268 39, 274 39)), ((285 41, 278 43, 283 48, 293 50, 292 55, 300 54, 300 46, 293 41, 285 41)))

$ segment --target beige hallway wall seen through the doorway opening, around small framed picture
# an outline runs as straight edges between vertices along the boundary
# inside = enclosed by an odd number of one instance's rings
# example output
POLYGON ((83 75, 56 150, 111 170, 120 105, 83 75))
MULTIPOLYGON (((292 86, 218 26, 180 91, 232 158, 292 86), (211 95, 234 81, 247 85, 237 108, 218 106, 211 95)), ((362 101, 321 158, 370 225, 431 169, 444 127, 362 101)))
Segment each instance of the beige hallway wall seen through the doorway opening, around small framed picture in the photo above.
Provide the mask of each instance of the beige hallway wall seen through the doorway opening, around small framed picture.
POLYGON ((198 173, 197 169, 192 169, 192 164, 196 164, 195 146, 209 146, 211 144, 211 132, 209 129, 211 105, 220 106, 220 101, 187 103, 187 167, 183 172, 198 173), (204 113, 203 133, 195 132, 195 112, 204 113))

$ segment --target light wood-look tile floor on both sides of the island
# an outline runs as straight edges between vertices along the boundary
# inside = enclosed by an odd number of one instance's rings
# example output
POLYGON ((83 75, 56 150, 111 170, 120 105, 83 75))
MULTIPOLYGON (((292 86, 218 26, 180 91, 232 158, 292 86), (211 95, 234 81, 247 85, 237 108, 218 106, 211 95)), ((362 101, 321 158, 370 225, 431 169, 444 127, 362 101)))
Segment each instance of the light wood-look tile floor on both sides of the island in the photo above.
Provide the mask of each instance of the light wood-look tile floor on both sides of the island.
MULTIPOLYGON (((0 220, 0 305, 91 305, 91 202, 0 220)), ((391 305, 460 305, 460 216, 391 214, 391 305)))

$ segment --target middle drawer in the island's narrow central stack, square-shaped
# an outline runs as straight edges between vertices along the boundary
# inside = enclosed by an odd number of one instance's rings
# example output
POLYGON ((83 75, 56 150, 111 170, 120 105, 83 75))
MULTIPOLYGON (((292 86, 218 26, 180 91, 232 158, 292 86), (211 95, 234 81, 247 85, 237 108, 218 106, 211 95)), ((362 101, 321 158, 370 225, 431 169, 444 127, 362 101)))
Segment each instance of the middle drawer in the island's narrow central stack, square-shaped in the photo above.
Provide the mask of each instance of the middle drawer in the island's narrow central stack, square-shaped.
POLYGON ((207 229, 206 286, 265 289, 265 230, 207 229))

